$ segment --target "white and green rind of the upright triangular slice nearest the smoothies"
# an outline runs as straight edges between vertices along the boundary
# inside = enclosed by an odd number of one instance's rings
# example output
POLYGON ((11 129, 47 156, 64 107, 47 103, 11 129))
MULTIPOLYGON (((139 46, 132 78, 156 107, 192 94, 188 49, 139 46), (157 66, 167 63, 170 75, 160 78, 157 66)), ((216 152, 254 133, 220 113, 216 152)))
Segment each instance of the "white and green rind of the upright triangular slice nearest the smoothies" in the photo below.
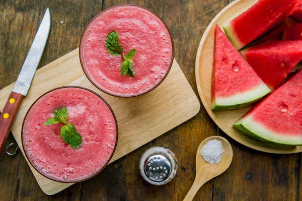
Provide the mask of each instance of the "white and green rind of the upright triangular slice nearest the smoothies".
POLYGON ((268 93, 270 93, 270 89, 264 83, 261 83, 253 89, 243 93, 237 93, 226 98, 215 97, 211 109, 220 111, 244 108, 252 105, 268 93))

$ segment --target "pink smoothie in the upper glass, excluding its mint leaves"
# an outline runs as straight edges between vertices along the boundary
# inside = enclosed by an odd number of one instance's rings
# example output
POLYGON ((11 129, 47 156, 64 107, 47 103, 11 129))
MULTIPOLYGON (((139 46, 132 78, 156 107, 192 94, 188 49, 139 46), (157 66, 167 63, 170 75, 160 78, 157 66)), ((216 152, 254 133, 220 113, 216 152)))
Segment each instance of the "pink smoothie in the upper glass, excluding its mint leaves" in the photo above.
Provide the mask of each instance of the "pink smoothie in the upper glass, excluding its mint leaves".
POLYGON ((173 61, 173 44, 163 21, 147 9, 121 5, 96 16, 80 43, 82 66, 102 91, 116 96, 137 96, 157 86, 173 61), (122 57, 106 50, 107 35, 117 31, 124 53, 136 49, 132 58, 135 77, 121 76, 122 57))

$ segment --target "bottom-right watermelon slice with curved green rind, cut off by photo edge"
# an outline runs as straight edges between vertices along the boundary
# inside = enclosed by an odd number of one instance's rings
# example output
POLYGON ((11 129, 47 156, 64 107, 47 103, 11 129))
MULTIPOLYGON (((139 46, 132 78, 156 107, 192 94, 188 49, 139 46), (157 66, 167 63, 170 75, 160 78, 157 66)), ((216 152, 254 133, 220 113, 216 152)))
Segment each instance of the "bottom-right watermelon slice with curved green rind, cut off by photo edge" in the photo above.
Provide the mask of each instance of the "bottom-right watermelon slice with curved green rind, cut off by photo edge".
POLYGON ((302 145, 302 71, 261 101, 234 126, 264 142, 302 145))

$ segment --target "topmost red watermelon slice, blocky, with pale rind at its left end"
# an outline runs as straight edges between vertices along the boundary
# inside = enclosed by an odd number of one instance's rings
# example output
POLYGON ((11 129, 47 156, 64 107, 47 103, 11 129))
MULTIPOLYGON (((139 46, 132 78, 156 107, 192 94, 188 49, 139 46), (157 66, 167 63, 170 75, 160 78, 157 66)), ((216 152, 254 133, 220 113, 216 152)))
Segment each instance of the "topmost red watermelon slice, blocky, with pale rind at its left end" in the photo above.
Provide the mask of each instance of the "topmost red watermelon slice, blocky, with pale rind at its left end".
POLYGON ((284 21, 296 2, 297 0, 259 0, 224 26, 224 31, 235 47, 241 49, 284 21))

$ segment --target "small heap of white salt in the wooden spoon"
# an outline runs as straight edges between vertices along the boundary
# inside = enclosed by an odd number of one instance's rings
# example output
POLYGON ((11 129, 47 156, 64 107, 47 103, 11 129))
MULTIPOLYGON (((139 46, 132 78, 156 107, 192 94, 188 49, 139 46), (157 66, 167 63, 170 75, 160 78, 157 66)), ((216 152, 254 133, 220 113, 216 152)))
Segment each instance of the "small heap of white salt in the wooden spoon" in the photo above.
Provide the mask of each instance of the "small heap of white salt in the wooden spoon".
POLYGON ((224 150, 222 149, 222 143, 218 140, 210 140, 203 147, 200 155, 203 159, 213 165, 218 164, 223 156, 224 150))

